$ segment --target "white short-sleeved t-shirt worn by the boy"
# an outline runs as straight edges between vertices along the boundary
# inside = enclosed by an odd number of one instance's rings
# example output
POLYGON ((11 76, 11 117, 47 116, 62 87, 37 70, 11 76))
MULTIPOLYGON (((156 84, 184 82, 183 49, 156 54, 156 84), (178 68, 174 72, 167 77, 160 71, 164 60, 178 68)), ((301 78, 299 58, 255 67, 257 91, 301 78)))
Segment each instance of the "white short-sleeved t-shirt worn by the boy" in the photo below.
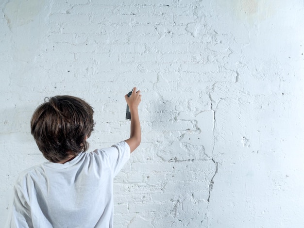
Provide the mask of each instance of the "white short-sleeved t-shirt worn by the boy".
POLYGON ((14 188, 10 228, 112 228, 113 178, 130 158, 120 142, 73 160, 24 171, 14 188))

